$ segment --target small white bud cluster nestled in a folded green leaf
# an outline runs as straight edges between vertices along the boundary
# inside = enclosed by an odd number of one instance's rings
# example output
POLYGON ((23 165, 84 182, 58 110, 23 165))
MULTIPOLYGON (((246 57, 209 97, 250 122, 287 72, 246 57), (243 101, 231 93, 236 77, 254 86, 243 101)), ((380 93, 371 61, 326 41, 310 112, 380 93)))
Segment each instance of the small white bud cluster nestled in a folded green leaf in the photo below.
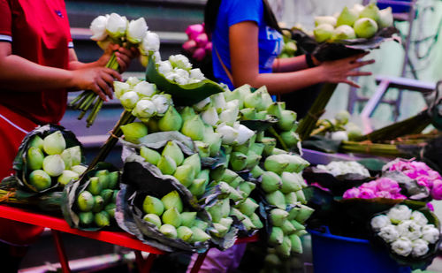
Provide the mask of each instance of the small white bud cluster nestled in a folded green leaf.
POLYGON ((179 85, 187 85, 205 80, 199 68, 192 69, 189 59, 181 54, 171 55, 169 60, 157 62, 157 70, 167 80, 174 81, 179 85))

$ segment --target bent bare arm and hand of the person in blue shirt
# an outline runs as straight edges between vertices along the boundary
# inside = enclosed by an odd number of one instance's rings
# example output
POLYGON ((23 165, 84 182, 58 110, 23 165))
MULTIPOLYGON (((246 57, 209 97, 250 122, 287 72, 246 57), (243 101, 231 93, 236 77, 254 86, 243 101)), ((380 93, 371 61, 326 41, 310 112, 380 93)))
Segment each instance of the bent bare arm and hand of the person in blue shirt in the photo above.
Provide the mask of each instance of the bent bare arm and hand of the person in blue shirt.
MULTIPOLYGON (((358 87, 348 76, 370 75, 370 72, 356 72, 355 68, 373 61, 359 61, 363 56, 324 62, 323 64, 298 72, 259 73, 258 27, 255 22, 244 21, 229 28, 229 42, 233 85, 240 87, 248 83, 252 87, 267 86, 271 94, 284 94, 309 87, 320 82, 347 83, 358 87), (247 42, 245 42, 247 41, 247 42)), ((302 67, 301 57, 293 60, 293 66, 302 67)), ((291 62, 291 61, 287 61, 291 62)), ((288 65, 290 66, 290 65, 288 65)))

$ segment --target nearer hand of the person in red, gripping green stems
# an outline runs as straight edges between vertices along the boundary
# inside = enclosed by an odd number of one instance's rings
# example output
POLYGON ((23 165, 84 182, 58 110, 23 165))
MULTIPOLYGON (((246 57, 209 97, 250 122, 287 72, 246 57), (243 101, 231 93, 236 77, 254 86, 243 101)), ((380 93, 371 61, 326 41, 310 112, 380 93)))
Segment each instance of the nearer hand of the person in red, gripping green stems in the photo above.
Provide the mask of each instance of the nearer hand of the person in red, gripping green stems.
POLYGON ((106 95, 112 99, 114 80, 121 80, 121 75, 106 67, 94 67, 72 71, 72 87, 80 90, 92 90, 107 102, 106 95))

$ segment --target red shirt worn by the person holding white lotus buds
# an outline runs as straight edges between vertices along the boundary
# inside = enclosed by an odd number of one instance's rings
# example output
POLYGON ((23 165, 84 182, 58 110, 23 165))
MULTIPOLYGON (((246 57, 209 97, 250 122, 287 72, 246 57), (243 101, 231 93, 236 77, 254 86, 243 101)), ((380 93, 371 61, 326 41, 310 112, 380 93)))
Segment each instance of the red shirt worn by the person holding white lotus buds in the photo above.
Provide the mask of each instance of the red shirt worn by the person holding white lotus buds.
MULTIPOLYGON (((0 0, 0 42, 36 64, 68 69, 72 47, 64 0, 0 0)), ((65 89, 0 90, 0 104, 34 123, 57 124, 65 114, 65 89)))

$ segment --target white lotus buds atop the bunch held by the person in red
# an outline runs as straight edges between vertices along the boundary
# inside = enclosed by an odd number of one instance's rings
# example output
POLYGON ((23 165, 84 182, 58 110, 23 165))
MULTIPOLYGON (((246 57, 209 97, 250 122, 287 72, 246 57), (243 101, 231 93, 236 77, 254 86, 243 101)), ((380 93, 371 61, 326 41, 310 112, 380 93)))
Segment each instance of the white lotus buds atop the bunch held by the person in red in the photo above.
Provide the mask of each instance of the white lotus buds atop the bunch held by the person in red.
POLYGON ((127 47, 137 46, 141 52, 141 63, 146 65, 147 57, 154 56, 159 62, 160 39, 158 34, 150 32, 144 18, 127 20, 117 13, 100 15, 90 24, 91 39, 101 45, 114 42, 127 47), (125 44, 126 43, 126 44, 125 44))

